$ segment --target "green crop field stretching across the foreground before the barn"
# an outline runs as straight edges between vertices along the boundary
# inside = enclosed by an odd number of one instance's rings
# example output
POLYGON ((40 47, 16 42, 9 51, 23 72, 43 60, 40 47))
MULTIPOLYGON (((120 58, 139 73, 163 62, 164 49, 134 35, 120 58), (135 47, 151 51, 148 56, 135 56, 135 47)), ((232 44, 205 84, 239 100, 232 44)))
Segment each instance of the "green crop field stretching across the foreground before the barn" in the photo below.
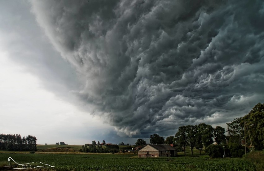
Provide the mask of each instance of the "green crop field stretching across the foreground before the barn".
MULTIPOLYGON (((201 157, 137 158, 123 154, 18 154, 0 153, 0 170, 7 169, 8 157, 16 162, 40 161, 55 166, 45 170, 255 170, 243 159, 201 157)), ((43 169, 42 169, 43 170, 43 169)))

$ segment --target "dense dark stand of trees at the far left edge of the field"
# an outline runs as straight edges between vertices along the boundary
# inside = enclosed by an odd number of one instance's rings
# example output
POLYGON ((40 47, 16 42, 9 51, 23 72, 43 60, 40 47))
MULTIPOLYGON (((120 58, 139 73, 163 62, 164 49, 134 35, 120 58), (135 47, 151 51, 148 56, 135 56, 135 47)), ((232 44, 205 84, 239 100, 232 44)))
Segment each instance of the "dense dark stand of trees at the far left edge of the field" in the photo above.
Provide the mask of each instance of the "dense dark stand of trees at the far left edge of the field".
POLYGON ((21 138, 18 134, 0 134, 0 149, 8 151, 36 151, 37 138, 33 135, 21 138))

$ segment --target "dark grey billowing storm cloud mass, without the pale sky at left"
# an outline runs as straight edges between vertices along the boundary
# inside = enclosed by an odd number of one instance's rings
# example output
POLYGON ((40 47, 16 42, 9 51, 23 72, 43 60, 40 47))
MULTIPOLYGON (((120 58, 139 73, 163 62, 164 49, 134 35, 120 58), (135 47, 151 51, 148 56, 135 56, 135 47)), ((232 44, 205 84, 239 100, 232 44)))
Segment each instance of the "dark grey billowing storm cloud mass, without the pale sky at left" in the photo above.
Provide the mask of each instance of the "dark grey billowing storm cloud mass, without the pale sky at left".
POLYGON ((83 82, 76 95, 119 135, 225 123, 263 103, 261 0, 32 1, 83 82))

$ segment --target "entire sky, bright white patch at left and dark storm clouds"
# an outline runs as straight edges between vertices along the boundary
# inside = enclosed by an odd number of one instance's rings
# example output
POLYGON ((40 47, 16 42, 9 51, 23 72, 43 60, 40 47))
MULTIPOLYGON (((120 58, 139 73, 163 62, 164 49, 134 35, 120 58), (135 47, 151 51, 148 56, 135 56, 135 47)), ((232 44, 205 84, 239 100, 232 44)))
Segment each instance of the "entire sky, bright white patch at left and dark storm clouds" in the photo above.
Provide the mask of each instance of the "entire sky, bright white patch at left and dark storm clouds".
POLYGON ((0 133, 134 144, 264 102, 261 0, 1 0, 0 20, 0 133))

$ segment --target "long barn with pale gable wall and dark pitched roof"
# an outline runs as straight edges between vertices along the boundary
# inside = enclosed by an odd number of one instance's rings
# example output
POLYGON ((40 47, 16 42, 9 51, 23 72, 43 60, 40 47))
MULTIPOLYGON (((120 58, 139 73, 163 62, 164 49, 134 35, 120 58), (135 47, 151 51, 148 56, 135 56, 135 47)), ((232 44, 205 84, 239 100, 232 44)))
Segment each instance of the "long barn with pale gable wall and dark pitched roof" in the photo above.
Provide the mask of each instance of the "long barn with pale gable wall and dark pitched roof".
POLYGON ((175 157, 177 150, 168 144, 147 144, 139 150, 139 158, 143 157, 175 157))

